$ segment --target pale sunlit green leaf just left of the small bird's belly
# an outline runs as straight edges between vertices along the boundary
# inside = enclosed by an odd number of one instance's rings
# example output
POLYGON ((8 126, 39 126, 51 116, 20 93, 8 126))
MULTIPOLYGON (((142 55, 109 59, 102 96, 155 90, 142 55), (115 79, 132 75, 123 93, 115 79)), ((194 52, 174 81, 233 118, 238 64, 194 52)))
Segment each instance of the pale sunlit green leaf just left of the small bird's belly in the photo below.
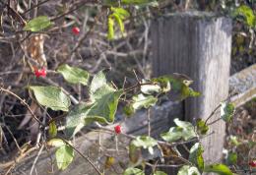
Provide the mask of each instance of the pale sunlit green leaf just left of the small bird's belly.
POLYGON ((149 108, 151 106, 154 106, 157 101, 158 101, 158 98, 154 97, 153 95, 144 95, 140 93, 138 95, 133 96, 131 105, 134 110, 138 110, 143 107, 149 108))

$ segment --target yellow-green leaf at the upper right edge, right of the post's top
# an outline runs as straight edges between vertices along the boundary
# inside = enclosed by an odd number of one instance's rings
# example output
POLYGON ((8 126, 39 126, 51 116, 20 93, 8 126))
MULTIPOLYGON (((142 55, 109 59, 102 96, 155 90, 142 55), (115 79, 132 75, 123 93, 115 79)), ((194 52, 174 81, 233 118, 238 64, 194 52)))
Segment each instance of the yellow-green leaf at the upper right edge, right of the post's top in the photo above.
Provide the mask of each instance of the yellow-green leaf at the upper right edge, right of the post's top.
POLYGON ((246 24, 254 28, 255 27, 255 15, 253 13, 253 10, 249 6, 239 6, 235 11, 234 11, 234 16, 241 15, 245 18, 246 24))

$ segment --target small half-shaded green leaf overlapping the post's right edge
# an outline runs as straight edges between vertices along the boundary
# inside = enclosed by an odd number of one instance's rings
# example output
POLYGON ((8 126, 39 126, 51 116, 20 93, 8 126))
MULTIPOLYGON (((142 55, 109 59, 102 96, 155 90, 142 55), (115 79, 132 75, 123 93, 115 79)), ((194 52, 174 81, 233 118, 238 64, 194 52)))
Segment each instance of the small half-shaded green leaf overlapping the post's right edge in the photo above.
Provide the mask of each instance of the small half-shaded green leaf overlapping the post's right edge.
POLYGON ((221 118, 229 122, 234 114, 234 105, 226 101, 221 103, 221 118))

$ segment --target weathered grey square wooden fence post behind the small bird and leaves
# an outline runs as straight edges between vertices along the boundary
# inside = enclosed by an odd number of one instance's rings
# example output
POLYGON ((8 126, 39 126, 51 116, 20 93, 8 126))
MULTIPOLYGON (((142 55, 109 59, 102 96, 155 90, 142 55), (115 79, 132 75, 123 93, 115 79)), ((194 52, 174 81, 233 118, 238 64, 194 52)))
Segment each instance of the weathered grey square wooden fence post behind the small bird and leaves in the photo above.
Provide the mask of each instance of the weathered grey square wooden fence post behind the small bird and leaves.
MULTIPOLYGON (((202 95, 186 99, 184 119, 206 119, 228 94, 231 20, 205 12, 176 13, 160 17, 152 25, 153 76, 186 74, 202 95)), ((213 120, 220 117, 220 113, 213 120)), ((225 124, 203 139, 207 163, 222 161, 225 124)))

